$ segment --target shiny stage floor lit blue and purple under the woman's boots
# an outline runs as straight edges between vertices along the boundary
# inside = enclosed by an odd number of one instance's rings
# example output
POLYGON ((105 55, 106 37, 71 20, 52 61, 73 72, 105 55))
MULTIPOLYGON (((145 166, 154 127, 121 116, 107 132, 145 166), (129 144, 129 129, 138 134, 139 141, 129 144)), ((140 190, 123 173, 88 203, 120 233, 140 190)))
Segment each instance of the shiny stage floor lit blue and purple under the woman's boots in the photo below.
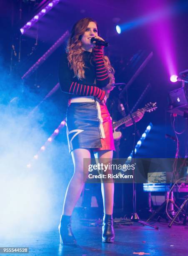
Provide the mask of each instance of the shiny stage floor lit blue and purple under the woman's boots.
MULTIPOLYGON (((101 242, 101 227, 73 229, 77 246, 62 246, 59 243, 58 230, 35 233, 22 238, 3 239, 0 246, 29 247, 26 255, 188 255, 188 227, 155 223, 159 230, 138 223, 115 228, 113 244, 101 242), (145 254, 143 254, 145 253, 145 254)), ((4 254, 11 255, 11 254, 4 254)), ((15 255, 15 254, 14 254, 15 255)), ((20 255, 20 254, 16 254, 20 255)))

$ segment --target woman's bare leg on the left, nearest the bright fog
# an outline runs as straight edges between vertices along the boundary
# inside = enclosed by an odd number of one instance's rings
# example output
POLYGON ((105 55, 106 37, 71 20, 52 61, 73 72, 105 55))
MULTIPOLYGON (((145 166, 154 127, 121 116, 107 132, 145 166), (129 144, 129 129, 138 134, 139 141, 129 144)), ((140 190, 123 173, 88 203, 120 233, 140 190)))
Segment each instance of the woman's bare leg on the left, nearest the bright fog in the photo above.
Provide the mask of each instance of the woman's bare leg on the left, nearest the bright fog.
POLYGON ((72 215, 84 185, 84 171, 87 172, 87 170, 84 170, 83 159, 91 158, 90 150, 86 148, 77 148, 71 154, 74 164, 74 174, 68 184, 63 204, 63 215, 69 216, 72 215))

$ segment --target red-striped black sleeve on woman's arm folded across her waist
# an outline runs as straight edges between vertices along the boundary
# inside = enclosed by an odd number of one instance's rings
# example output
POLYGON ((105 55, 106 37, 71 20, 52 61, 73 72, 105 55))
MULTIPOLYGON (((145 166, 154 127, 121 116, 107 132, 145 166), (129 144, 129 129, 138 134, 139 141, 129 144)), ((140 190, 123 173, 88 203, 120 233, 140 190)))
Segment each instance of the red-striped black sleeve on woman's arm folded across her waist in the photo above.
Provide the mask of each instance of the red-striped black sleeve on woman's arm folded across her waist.
POLYGON ((94 85, 82 84, 73 81, 73 71, 68 67, 67 56, 63 55, 60 59, 59 82, 63 92, 78 96, 95 96, 100 101, 105 97, 105 91, 94 85))

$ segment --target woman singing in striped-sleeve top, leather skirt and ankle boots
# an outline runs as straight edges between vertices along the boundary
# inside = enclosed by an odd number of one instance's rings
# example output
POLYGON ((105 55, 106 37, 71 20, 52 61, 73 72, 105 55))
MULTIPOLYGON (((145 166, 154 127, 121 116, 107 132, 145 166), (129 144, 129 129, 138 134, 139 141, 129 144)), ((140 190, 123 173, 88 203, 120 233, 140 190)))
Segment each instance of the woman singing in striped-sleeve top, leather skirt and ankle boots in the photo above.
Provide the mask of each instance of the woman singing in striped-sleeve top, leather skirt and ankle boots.
MULTIPOLYGON (((71 31, 67 52, 60 60, 59 80, 63 92, 70 94, 66 126, 69 151, 74 164, 63 205, 59 232, 63 244, 76 243, 71 230, 71 215, 84 185, 84 159, 91 158, 93 150, 99 163, 112 159, 114 142, 110 115, 106 108, 105 87, 109 83, 108 72, 112 69, 103 59, 103 47, 91 38, 103 41, 98 25, 91 18, 79 20, 71 31)), ((111 172, 111 170, 109 170, 111 172)), ((113 243, 113 180, 102 182, 104 217, 102 241, 113 243)))

